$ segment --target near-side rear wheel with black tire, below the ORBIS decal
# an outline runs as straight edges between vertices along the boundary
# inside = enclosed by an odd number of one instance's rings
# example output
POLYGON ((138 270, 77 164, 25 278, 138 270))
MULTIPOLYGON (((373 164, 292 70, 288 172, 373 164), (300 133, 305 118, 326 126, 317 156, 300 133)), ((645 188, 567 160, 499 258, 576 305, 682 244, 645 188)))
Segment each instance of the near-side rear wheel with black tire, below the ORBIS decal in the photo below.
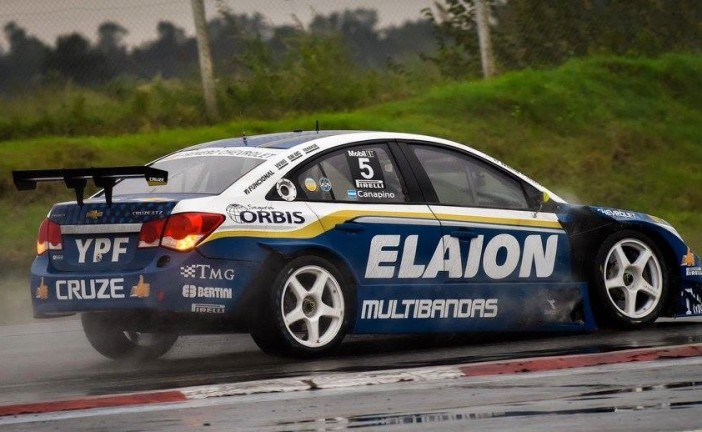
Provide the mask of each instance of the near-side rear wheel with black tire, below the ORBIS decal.
POLYGON ((286 264, 258 302, 251 336, 268 354, 314 358, 336 348, 349 327, 353 287, 329 261, 303 256, 286 264))

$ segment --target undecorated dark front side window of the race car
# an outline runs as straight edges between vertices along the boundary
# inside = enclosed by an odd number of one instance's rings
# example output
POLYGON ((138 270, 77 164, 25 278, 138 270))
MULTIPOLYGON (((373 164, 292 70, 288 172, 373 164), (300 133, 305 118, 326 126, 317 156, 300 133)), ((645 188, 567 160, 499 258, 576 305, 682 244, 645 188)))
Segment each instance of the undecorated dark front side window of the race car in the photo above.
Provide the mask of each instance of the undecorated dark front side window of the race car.
POLYGON ((527 209, 520 182, 498 168, 460 152, 413 145, 440 204, 527 209))

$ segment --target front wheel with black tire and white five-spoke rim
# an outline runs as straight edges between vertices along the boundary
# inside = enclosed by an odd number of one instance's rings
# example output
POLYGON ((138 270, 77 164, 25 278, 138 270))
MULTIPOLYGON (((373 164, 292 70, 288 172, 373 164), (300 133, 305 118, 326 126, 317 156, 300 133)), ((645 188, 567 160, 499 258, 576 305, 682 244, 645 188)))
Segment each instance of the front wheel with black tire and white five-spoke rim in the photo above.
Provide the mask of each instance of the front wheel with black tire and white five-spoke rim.
POLYGON ((653 240, 637 231, 617 231, 602 243, 593 264, 593 313, 600 326, 635 329, 659 317, 670 281, 653 240))

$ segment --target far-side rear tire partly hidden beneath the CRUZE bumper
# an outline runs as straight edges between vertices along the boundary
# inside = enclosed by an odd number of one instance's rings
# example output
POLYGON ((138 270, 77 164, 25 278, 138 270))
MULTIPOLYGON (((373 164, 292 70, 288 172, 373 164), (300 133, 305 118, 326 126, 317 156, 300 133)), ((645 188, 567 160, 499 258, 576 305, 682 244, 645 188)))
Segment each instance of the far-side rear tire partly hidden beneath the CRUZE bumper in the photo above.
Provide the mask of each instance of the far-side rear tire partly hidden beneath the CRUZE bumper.
POLYGON ((118 314, 86 312, 81 315, 83 332, 90 345, 112 360, 154 360, 178 340, 177 333, 142 333, 125 329, 124 321, 124 317, 118 314))

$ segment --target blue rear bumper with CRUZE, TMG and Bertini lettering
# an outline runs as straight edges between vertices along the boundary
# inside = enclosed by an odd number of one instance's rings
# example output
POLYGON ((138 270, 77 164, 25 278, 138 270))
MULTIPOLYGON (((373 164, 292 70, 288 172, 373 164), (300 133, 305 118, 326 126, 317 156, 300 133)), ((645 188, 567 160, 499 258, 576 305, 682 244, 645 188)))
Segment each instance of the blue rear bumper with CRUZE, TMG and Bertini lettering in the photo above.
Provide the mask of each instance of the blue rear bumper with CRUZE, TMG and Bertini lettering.
POLYGON ((128 310, 233 314, 260 265, 211 260, 197 252, 170 253, 167 261, 138 271, 78 273, 52 271, 46 254, 37 257, 30 282, 34 316, 128 310))

